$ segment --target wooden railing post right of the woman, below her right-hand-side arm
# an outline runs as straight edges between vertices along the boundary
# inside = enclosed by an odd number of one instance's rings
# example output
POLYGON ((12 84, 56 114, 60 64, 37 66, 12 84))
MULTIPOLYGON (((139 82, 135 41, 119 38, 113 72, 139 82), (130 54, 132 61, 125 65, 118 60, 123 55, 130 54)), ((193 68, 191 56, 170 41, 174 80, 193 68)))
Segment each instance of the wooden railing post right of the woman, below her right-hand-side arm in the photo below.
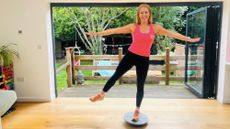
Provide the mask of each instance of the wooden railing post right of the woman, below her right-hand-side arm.
POLYGON ((170 75, 170 49, 166 49, 165 54, 165 85, 169 85, 169 75, 170 75))

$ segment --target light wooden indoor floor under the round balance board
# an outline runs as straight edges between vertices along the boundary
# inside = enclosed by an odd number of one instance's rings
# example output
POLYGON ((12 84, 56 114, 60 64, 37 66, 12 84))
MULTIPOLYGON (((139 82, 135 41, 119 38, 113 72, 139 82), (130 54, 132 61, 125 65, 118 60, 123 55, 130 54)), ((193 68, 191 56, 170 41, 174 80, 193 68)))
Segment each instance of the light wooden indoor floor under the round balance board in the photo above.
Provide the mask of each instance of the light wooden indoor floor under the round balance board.
MULTIPOLYGON (((135 129, 123 115, 134 109, 132 98, 58 98, 50 103, 18 103, 2 119, 3 129, 135 129)), ((205 99, 144 99, 150 121, 139 129, 229 129, 230 105, 205 99)))

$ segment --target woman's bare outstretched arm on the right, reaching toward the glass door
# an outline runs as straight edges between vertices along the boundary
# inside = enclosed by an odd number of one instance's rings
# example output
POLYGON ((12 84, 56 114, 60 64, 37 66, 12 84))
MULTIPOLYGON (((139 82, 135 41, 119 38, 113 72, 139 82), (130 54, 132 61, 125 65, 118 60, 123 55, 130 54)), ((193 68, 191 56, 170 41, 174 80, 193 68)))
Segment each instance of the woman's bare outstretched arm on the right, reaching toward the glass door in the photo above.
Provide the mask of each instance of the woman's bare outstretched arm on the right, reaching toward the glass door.
POLYGON ((198 42, 198 41, 200 41, 200 38, 198 38, 198 37, 190 38, 190 37, 184 36, 180 33, 167 30, 158 24, 154 24, 154 30, 159 35, 164 35, 164 36, 176 38, 176 39, 187 41, 187 42, 198 42))

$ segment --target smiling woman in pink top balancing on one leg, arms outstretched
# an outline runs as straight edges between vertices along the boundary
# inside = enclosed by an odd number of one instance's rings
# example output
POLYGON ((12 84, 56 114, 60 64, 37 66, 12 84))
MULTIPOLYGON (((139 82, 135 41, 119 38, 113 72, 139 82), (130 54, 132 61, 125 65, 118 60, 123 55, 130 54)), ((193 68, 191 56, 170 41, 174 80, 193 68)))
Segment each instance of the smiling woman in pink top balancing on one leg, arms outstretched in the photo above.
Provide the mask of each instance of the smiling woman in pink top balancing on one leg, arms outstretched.
POLYGON ((87 35, 111 35, 111 34, 132 34, 132 43, 127 54, 119 63, 115 73, 107 81, 103 90, 97 95, 90 97, 92 102, 103 100, 105 94, 115 84, 115 82, 129 69, 136 66, 137 93, 136 109, 133 121, 138 121, 141 102, 144 96, 144 83, 149 68, 150 49, 154 41, 155 34, 169 36, 183 41, 198 42, 200 38, 190 38, 177 32, 169 31, 158 24, 152 24, 151 8, 147 4, 141 4, 137 9, 136 24, 129 24, 123 27, 107 29, 101 32, 88 32, 87 35))

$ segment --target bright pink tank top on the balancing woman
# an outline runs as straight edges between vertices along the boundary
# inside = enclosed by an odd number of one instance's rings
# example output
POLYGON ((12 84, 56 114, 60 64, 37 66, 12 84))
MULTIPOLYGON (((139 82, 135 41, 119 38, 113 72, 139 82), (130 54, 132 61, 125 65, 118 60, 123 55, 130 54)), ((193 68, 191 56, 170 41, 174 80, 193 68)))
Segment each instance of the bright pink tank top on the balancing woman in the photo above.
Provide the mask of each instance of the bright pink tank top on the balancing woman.
POLYGON ((152 24, 150 25, 148 33, 141 32, 140 25, 136 25, 136 29, 132 33, 133 41, 128 50, 134 54, 149 57, 154 38, 155 32, 152 24))

